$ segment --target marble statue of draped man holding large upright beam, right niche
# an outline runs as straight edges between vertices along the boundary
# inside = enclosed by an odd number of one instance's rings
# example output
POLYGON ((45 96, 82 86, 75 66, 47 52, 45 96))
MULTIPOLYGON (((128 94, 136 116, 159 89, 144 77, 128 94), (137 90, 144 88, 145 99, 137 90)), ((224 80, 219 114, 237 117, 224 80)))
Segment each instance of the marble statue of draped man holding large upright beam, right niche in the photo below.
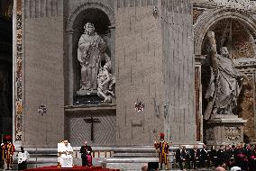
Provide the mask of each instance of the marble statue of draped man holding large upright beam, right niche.
POLYGON ((233 114, 237 99, 242 89, 242 74, 234 67, 226 47, 220 49, 220 55, 215 50, 214 32, 208 33, 210 42, 210 57, 212 60, 211 79, 206 90, 208 100, 204 118, 214 118, 215 114, 233 114), (214 42, 214 43, 213 43, 214 42), (213 116, 211 116, 213 115, 213 116))

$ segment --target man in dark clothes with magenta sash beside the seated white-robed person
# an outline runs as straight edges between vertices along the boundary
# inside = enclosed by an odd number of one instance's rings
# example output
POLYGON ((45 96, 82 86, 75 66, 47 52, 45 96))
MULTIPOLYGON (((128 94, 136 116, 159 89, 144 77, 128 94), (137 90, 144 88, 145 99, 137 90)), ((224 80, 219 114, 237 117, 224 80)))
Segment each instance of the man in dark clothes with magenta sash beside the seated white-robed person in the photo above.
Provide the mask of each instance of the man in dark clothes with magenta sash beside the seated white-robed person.
POLYGON ((80 148, 80 153, 82 157, 82 166, 92 166, 92 148, 87 145, 87 141, 85 141, 85 145, 80 148))

